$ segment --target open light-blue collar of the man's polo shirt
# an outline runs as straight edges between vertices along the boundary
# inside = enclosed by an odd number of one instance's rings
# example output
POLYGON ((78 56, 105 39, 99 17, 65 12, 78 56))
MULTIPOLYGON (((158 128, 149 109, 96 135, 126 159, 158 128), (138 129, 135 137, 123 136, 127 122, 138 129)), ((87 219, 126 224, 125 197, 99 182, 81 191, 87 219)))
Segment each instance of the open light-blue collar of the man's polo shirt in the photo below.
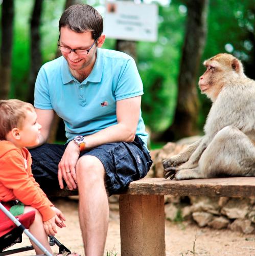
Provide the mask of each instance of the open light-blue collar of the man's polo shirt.
MULTIPOLYGON (((102 49, 97 48, 97 59, 95 65, 89 74, 89 76, 85 79, 87 82, 100 82, 103 75, 103 67, 104 67, 104 59, 103 54, 101 53, 102 49)), ((74 80, 73 75, 71 74, 68 63, 66 59, 62 56, 63 62, 61 67, 61 76, 63 84, 67 84, 74 80)))

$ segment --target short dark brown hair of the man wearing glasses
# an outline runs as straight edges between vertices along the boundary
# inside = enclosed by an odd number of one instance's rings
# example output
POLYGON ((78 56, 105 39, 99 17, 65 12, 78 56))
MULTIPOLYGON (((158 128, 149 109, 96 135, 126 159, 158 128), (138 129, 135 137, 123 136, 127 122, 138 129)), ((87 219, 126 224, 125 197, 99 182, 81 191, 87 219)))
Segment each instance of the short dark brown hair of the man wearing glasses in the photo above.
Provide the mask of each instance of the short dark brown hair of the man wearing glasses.
POLYGON ((77 33, 91 31, 93 39, 103 33, 103 18, 100 13, 90 5, 72 5, 68 7, 59 20, 59 32, 67 27, 77 33))

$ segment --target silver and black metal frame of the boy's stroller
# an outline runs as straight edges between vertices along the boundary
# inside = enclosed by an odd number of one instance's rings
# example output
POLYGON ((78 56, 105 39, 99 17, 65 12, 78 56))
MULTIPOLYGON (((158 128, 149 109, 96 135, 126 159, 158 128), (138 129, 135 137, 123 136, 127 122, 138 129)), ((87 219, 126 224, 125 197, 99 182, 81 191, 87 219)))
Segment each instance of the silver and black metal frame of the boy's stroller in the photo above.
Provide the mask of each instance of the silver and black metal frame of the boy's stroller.
MULTIPOLYGON (((17 226, 17 228, 19 230, 21 230, 21 232, 24 232, 30 240, 32 240, 39 248, 41 251, 43 251, 42 255, 45 256, 52 256, 52 254, 33 236, 33 234, 31 234, 29 232, 28 229, 25 228, 24 225, 22 225, 17 218, 15 218, 10 211, 8 211, 4 205, 0 202, 0 210, 2 210, 4 212, 4 214, 17 226)), ((57 245, 59 247, 59 253, 62 252, 71 252, 70 250, 68 250, 63 244, 61 244, 55 237, 53 236, 49 236, 50 237, 50 246, 53 245, 57 245)), ((0 256, 5 256, 5 255, 10 255, 10 254, 14 254, 14 253, 18 253, 18 252, 22 252, 22 251, 28 251, 28 250, 33 250, 34 247, 31 246, 25 246, 25 247, 21 247, 21 248, 17 248, 17 249, 12 249, 12 250, 7 250, 7 251, 2 251, 0 252, 0 256)))

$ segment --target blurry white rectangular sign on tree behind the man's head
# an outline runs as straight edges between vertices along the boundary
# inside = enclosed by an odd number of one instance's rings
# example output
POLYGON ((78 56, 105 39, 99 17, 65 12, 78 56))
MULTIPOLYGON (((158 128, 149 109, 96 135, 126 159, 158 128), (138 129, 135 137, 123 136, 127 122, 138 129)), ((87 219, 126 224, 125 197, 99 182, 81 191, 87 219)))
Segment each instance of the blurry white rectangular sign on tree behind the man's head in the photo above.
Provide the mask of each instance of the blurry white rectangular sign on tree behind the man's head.
POLYGON ((158 8, 155 4, 106 2, 104 34, 115 39, 156 41, 157 17, 158 8))

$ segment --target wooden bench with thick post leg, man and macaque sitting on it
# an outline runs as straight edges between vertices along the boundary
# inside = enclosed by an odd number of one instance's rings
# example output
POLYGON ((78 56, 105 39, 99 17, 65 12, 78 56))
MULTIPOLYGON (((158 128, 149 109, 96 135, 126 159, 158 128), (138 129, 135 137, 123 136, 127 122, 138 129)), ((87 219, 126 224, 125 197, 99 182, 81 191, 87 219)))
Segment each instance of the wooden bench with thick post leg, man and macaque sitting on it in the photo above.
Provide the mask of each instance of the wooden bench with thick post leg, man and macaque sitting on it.
MULTIPOLYGON (((63 189, 55 196, 77 195, 63 189)), ((173 181, 144 178, 131 182, 120 195, 120 228, 122 256, 164 256, 164 196, 252 197, 254 177, 173 181)))

